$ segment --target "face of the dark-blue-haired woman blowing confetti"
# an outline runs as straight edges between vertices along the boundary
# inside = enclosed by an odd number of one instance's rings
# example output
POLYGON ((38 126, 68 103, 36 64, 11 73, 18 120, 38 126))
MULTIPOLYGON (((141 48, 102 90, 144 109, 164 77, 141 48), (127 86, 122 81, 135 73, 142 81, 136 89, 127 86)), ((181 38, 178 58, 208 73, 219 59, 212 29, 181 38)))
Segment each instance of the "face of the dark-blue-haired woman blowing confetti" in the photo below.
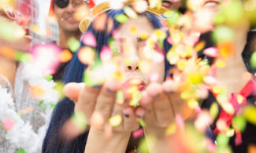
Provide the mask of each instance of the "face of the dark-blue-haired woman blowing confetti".
MULTIPOLYGON (((138 16, 136 19, 129 19, 126 23, 121 24, 118 27, 114 37, 121 43, 121 53, 117 56, 119 61, 128 61, 128 64, 124 64, 123 71, 126 80, 130 78, 139 78, 146 85, 150 82, 150 77, 156 76, 154 81, 163 82, 165 77, 165 62, 149 60, 145 49, 147 39, 142 39, 141 35, 154 35, 154 27, 147 19, 146 16, 138 16), (142 63, 147 63, 146 66, 142 63), (147 71, 142 71, 147 69, 147 71)), ((158 44, 154 44, 158 46, 158 44)), ((158 49, 154 50, 154 53, 162 55, 162 51, 158 49)), ((151 52, 152 53, 152 52, 151 52)))

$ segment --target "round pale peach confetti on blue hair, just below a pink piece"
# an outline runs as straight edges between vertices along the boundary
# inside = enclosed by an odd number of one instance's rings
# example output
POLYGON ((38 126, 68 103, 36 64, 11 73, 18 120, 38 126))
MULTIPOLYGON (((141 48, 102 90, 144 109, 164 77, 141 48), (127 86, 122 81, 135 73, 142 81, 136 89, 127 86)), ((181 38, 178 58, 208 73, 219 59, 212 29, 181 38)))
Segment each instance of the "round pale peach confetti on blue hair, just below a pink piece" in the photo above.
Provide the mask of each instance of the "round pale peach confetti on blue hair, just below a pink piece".
POLYGON ((95 56, 95 50, 91 49, 91 47, 83 46, 78 52, 78 58, 83 64, 95 64, 95 56))

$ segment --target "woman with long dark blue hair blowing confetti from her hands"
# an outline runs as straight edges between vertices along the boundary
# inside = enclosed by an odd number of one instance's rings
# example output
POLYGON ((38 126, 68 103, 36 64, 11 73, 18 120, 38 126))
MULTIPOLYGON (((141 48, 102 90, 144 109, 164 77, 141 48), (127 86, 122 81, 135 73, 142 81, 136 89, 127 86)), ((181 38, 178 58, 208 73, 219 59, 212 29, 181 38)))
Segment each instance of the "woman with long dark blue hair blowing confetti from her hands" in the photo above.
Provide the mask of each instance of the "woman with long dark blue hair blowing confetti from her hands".
POLYGON ((168 149, 163 144, 164 130, 173 122, 174 111, 186 104, 161 85, 171 67, 165 58, 170 48, 167 27, 160 16, 146 9, 135 9, 137 13, 130 5, 107 9, 89 24, 66 78, 66 82, 84 80, 86 85, 65 86, 70 100, 57 105, 43 152, 83 152, 84 148, 86 152, 124 152, 142 118, 146 135, 157 135, 159 145, 168 149), (145 108, 139 107, 139 101, 145 108), (76 137, 87 128, 84 123, 91 125, 89 135, 76 137), (71 128, 72 124, 79 128, 71 128))

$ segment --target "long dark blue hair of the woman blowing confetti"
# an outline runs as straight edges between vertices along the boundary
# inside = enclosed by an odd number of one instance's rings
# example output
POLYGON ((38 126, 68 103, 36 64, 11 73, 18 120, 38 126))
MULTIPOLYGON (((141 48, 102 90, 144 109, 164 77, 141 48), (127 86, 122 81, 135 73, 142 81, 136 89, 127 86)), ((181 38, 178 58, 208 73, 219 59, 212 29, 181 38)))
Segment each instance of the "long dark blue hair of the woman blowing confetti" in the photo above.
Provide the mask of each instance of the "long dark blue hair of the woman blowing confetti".
MULTIPOLYGON (((106 12, 106 15, 109 18, 114 18, 117 14, 124 14, 123 9, 113 10, 110 9, 106 12)), ((161 28, 161 20, 154 13, 146 12, 142 14, 143 16, 147 16, 150 20, 150 23, 153 25, 155 29, 161 28)), ((117 29, 120 25, 117 20, 113 20, 113 29, 117 29)), ((107 25, 106 25, 107 26, 107 25)), ((96 38, 97 41, 97 50, 98 53, 102 50, 102 46, 107 46, 109 38, 112 37, 111 32, 108 34, 106 31, 96 31, 93 27, 93 23, 88 27, 87 31, 91 31, 96 38)), ((84 46, 81 44, 81 46, 84 46)), ((169 43, 165 40, 164 42, 164 51, 168 52, 170 49, 169 43)), ((65 77, 64 82, 82 82, 83 79, 83 71, 87 66, 82 64, 78 59, 78 56, 73 57, 69 66, 65 69, 65 77)), ((165 58, 165 77, 168 75, 168 70, 171 67, 169 62, 165 58)), ((85 144, 87 142, 88 132, 83 133, 79 137, 74 140, 61 139, 59 136, 59 130, 61 126, 71 117, 74 112, 74 103, 69 100, 69 98, 65 98, 61 102, 59 102, 53 112, 53 115, 50 120, 50 126, 47 129, 46 137, 43 142, 43 152, 49 153, 59 153, 59 152, 83 152, 85 144)))

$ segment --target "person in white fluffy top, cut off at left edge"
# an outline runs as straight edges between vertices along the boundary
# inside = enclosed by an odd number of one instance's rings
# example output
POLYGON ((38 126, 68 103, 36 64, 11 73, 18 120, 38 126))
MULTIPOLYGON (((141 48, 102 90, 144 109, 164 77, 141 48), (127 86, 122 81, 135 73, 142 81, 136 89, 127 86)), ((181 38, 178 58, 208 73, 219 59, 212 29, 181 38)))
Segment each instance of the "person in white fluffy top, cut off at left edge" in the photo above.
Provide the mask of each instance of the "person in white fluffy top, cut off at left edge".
POLYGON ((24 28, 28 20, 9 6, 0 13, 0 152, 39 152, 58 93, 54 82, 20 62, 32 42, 24 28))

